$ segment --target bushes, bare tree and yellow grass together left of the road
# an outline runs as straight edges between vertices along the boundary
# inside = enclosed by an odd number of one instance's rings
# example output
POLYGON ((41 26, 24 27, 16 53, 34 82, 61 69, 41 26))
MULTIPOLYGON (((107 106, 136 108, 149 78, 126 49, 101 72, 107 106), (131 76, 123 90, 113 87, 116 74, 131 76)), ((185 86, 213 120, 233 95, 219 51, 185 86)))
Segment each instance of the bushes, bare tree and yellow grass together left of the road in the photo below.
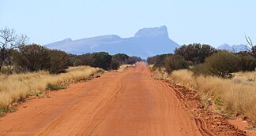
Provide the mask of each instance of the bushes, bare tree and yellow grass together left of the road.
POLYGON ((13 112, 17 101, 65 89, 70 83, 92 79, 104 70, 125 69, 141 61, 124 53, 85 53, 75 55, 50 50, 39 44, 26 44, 27 36, 9 28, 0 30, 0 116, 13 112))

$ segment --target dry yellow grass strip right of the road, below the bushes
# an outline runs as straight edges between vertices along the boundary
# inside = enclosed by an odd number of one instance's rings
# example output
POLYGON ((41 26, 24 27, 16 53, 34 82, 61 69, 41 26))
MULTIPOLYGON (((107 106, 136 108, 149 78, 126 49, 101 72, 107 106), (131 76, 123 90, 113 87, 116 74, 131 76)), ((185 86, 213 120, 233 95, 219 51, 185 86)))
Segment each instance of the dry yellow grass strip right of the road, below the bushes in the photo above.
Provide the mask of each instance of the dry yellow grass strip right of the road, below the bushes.
POLYGON ((212 98, 223 112, 247 116, 256 121, 256 72, 238 72, 232 79, 199 76, 187 70, 172 72, 171 76, 186 86, 199 90, 202 99, 212 98))

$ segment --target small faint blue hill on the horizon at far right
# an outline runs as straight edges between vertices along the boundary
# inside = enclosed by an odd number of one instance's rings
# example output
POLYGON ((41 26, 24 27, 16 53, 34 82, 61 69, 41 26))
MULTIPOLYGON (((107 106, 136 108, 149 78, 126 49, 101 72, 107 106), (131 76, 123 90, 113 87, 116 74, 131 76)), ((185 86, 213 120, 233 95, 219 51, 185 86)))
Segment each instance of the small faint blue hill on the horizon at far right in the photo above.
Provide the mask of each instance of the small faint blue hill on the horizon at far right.
POLYGON ((238 53, 240 51, 247 51, 248 46, 243 45, 243 44, 233 45, 233 46, 229 46, 228 44, 223 44, 221 46, 218 46, 217 49, 219 49, 219 50, 228 50, 228 51, 233 52, 233 53, 238 53))

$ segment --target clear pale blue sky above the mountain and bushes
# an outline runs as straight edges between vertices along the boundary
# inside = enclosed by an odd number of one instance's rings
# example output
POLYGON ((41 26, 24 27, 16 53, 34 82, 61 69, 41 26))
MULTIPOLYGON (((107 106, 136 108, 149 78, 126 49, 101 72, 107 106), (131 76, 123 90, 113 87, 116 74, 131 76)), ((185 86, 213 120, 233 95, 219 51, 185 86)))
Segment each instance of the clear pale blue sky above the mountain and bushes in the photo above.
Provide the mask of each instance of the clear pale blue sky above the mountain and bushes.
POLYGON ((0 0, 0 28, 46 44, 166 25, 179 44, 256 43, 255 0, 0 0))

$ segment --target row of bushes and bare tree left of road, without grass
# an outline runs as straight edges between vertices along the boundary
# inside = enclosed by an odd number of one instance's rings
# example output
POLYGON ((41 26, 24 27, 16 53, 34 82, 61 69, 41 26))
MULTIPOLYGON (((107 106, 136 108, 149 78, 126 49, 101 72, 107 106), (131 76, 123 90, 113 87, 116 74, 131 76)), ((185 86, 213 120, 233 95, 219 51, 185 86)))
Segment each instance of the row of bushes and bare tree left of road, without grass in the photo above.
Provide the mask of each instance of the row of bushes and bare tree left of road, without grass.
POLYGON ((104 70, 118 69, 121 64, 135 64, 140 57, 124 53, 106 52, 75 55, 61 50, 50 50, 39 44, 26 44, 27 36, 17 35, 13 29, 0 30, 0 72, 13 74, 48 71, 51 74, 66 72, 70 66, 88 65, 104 70))

